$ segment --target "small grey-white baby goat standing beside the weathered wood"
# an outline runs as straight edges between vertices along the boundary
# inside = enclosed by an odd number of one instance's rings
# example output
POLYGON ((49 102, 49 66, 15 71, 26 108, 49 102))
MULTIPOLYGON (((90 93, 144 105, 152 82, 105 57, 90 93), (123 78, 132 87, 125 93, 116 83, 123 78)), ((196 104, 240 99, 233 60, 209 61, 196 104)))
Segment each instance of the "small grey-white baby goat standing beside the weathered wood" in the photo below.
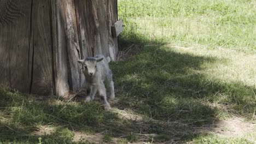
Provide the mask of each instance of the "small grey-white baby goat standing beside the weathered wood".
POLYGON ((103 55, 97 55, 95 57, 80 59, 78 62, 83 65, 85 87, 89 93, 85 101, 93 100, 95 94, 98 92, 101 99, 104 100, 104 109, 110 110, 111 107, 107 101, 107 93, 104 86, 105 83, 109 89, 109 99, 113 100, 115 98, 115 93, 114 82, 112 80, 112 71, 109 69, 108 65, 110 58, 106 58, 103 55))

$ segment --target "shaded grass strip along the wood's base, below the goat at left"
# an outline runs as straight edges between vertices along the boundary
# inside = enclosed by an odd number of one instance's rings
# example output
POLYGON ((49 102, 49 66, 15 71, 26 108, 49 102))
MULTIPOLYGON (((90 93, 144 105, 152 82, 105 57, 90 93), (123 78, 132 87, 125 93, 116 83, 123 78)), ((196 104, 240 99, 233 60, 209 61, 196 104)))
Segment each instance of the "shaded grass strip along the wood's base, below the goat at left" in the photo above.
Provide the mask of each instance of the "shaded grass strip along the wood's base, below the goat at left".
POLYGON ((34 143, 42 137, 44 143, 72 142, 73 131, 95 134, 109 131, 121 136, 129 122, 117 113, 106 112, 98 101, 92 103, 70 102, 51 98, 38 101, 31 95, 11 93, 0 89, 1 121, 0 142, 34 143), (3 101, 4 100, 4 101, 3 101), (115 122, 117 121, 117 122, 115 122), (54 133, 37 134, 40 127, 51 127, 54 133), (65 129, 68 128, 68 129, 65 129))

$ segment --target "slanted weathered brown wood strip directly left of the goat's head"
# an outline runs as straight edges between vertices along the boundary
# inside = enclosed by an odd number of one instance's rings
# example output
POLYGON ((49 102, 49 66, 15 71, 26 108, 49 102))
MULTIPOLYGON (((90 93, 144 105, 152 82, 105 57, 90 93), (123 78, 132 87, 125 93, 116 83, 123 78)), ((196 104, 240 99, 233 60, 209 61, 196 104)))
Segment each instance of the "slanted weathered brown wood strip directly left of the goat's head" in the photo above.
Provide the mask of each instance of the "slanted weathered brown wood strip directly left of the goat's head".
POLYGON ((68 62, 68 82, 71 91, 78 91, 83 80, 82 65, 77 61, 81 58, 80 46, 77 28, 77 19, 75 15, 75 5, 73 0, 61 1, 63 4, 63 15, 66 33, 66 48, 68 62))

